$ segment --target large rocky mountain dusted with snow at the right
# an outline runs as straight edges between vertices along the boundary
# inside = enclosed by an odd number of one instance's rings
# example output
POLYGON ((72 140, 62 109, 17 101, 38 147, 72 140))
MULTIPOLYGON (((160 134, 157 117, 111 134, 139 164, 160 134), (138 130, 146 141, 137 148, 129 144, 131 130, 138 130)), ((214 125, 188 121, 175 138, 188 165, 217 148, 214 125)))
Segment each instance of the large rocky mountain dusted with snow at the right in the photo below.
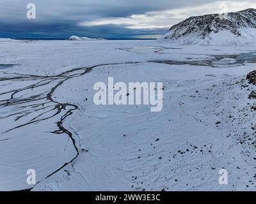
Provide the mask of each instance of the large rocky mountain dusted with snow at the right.
POLYGON ((190 17, 159 40, 182 45, 243 45, 256 41, 256 10, 190 17))

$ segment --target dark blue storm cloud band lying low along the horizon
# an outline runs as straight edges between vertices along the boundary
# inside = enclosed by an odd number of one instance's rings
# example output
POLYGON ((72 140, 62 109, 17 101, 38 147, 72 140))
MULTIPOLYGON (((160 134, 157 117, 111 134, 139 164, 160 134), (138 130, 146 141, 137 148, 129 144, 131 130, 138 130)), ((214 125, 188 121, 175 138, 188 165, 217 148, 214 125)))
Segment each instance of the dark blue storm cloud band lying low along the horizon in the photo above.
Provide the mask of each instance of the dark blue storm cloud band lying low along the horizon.
POLYGON ((88 38, 107 39, 132 39, 154 38, 151 36, 163 34, 166 29, 129 29, 122 25, 97 25, 83 26, 70 22, 58 22, 56 24, 19 24, 9 27, 8 24, 0 23, 1 37, 3 38, 68 38, 68 36, 87 36, 88 38), (29 32, 28 32, 29 31, 29 32), (148 37, 147 37, 148 36, 148 37))

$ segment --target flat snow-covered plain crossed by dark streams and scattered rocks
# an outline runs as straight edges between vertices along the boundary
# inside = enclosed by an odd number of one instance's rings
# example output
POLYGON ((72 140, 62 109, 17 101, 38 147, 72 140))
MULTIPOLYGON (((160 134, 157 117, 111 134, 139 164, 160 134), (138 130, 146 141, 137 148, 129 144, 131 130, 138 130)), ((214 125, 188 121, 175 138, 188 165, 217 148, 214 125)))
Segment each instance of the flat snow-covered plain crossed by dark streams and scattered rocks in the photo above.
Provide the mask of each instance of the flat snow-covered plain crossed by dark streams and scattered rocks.
POLYGON ((255 87, 244 80, 255 48, 0 43, 0 190, 255 189, 255 87), (163 110, 94 105, 93 85, 108 77, 163 82, 163 110))

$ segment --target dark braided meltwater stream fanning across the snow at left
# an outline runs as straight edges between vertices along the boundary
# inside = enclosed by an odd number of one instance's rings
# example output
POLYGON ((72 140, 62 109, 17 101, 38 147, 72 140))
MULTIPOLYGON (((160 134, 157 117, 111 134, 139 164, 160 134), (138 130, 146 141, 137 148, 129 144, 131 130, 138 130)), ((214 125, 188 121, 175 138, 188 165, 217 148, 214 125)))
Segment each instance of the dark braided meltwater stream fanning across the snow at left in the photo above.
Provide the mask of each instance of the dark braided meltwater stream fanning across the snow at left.
MULTIPOLYGON (((68 135, 68 137, 72 140, 74 149, 76 149, 77 153, 76 156, 74 156, 70 161, 67 161, 67 163, 60 166, 60 168, 53 171, 50 175, 47 175, 45 179, 50 177, 68 164, 72 163, 74 159, 79 156, 79 152, 81 152, 81 148, 79 147, 79 144, 76 143, 76 140, 73 137, 72 133, 63 126, 63 122, 65 121, 65 119, 72 115, 74 111, 78 110, 79 106, 72 103, 58 102, 56 97, 53 97, 54 92, 58 91, 58 87, 60 87, 67 80, 71 78, 81 77, 86 73, 92 71, 93 68, 97 68, 100 66, 138 63, 141 62, 99 64, 91 67, 71 69, 59 75, 53 76, 6 73, 1 71, 0 83, 1 86, 6 86, 7 89, 4 89, 4 91, 2 92, 0 90, 0 108, 8 107, 8 114, 0 116, 0 119, 8 119, 13 116, 15 117, 14 121, 11 121, 13 119, 10 119, 10 122, 13 124, 13 128, 6 130, 4 133, 8 133, 14 129, 19 129, 24 126, 37 124, 38 122, 49 120, 53 117, 60 115, 60 119, 55 122, 57 129, 55 131, 52 131, 51 133, 54 135, 68 135), (12 83, 19 83, 19 88, 12 89, 12 86, 10 86, 10 84, 12 83), (26 117, 28 117, 28 115, 31 113, 37 113, 37 115, 33 117, 33 119, 29 119, 27 122, 15 126, 15 122, 19 121, 22 118, 26 119, 26 117)), ((11 65, 5 64, 3 66, 4 68, 8 68, 11 65)), ((1 135, 4 135, 4 133, 1 133, 1 135)), ((5 140, 8 140, 8 138, 6 138, 5 140)))

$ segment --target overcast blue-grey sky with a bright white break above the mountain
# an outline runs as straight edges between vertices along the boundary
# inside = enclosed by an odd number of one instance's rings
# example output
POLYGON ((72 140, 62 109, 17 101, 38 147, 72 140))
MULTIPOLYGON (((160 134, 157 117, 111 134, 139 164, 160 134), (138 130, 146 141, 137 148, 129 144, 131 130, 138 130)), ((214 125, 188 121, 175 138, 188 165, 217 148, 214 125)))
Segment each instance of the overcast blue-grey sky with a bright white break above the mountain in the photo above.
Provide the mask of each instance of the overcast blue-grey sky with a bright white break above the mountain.
POLYGON ((188 17, 246 8, 256 0, 1 0, 0 37, 157 38, 188 17), (27 18, 28 3, 36 19, 27 18))

